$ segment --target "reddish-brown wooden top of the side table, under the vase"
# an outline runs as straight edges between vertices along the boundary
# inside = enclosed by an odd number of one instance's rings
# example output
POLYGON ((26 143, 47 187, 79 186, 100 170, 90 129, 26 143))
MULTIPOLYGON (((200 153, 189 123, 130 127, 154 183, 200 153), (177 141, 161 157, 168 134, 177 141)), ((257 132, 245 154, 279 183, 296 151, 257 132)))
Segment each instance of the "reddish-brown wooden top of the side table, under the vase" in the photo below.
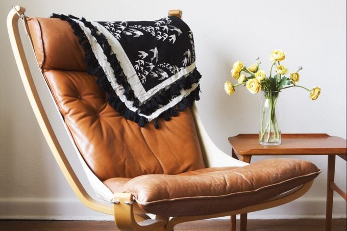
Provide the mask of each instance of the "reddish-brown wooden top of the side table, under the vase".
MULTIPOLYGON (((233 151, 242 156, 262 155, 346 155, 346 140, 327 134, 282 134, 280 145, 258 143, 258 134, 229 137, 233 151)), ((342 157, 343 158, 343 157, 342 157)))

